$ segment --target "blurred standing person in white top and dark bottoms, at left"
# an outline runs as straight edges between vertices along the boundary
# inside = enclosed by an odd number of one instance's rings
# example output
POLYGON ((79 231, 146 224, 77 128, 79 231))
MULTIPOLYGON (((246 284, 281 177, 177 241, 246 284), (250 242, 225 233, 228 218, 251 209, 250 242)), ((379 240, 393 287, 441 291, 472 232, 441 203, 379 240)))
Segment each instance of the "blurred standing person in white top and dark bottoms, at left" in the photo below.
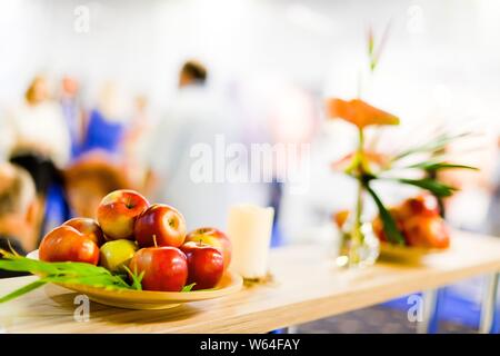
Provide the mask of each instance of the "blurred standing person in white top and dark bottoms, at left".
MULTIPOLYGON (((47 227, 46 209, 64 206, 61 169, 70 158, 70 135, 60 106, 50 98, 44 77, 30 83, 23 102, 8 116, 12 140, 10 161, 33 178, 39 205, 36 225, 41 237, 47 227)), ((50 227, 48 227, 50 228, 50 227)))

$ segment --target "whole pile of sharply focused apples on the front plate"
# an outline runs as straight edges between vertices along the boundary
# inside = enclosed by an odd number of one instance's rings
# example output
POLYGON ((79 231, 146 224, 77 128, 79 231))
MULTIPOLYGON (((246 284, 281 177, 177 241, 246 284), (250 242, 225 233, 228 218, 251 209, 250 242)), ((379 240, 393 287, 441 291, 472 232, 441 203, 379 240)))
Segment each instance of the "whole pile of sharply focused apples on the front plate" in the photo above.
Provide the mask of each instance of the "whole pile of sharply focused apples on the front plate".
POLYGON ((143 273, 142 289, 180 291, 213 288, 231 260, 231 243, 216 228, 187 234, 176 208, 150 205, 128 189, 107 195, 97 221, 73 218, 43 237, 39 257, 44 261, 99 265, 111 273, 143 273), (126 268, 128 267, 128 268, 126 268))

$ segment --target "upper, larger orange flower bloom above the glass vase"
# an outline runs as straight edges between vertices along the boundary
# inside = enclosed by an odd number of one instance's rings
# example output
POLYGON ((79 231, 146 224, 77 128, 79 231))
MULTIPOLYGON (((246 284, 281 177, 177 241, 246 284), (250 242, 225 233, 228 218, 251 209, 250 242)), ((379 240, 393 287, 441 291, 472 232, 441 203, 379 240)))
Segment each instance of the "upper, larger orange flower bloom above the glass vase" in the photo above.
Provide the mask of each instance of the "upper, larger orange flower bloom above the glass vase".
POLYGON ((353 99, 346 101, 342 99, 329 99, 327 101, 327 112, 331 118, 340 118, 349 121, 360 129, 370 125, 398 125, 399 118, 377 109, 371 105, 353 99))

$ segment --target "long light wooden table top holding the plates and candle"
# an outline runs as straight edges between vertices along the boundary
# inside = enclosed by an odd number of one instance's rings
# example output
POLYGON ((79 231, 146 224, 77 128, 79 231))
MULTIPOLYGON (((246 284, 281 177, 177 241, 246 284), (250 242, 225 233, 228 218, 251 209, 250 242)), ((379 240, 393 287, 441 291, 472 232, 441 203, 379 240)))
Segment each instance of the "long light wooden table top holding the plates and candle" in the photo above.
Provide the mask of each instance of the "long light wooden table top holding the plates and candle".
MULTIPOLYGON (((53 285, 0 305, 7 333, 266 333, 368 307, 476 275, 500 270, 500 238, 454 233, 446 253, 420 265, 379 261, 358 270, 333 266, 321 246, 271 253, 273 281, 219 299, 168 310, 128 310, 91 303, 90 320, 74 322, 74 293, 53 285)), ((0 295, 34 277, 0 280, 0 295)))

